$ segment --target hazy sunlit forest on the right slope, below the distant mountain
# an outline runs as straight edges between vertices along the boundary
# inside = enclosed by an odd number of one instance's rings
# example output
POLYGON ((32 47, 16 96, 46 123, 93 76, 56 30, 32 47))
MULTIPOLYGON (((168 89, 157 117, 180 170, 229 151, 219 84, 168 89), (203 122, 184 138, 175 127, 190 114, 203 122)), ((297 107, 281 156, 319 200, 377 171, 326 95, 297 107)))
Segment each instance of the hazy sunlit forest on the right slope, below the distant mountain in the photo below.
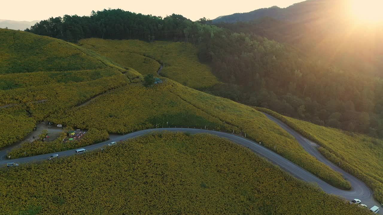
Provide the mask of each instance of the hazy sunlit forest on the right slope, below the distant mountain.
POLYGON ((214 94, 382 137, 381 79, 328 67, 258 36, 233 33, 216 37, 207 46, 213 53, 213 72, 228 83, 214 94))

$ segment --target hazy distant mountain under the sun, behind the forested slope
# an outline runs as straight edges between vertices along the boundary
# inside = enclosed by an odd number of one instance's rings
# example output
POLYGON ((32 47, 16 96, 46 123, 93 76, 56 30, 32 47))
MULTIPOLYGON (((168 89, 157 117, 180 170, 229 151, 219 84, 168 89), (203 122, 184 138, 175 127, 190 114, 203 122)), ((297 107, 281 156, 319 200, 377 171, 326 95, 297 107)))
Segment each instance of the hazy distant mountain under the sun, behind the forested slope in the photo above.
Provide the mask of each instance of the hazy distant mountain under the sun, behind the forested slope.
POLYGON ((323 64, 383 77, 383 28, 350 19, 346 0, 307 0, 216 18, 234 32, 290 44, 323 64))

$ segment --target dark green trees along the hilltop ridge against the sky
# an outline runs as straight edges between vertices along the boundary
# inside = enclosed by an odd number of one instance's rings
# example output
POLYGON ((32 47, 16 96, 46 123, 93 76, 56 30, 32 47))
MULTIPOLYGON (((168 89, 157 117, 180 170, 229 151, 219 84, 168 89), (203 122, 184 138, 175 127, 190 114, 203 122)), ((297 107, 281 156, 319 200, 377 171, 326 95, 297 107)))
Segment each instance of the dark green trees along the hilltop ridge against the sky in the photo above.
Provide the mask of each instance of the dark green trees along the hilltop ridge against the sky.
POLYGON ((83 38, 173 40, 185 42, 206 41, 211 37, 211 22, 206 18, 193 22, 182 15, 142 15, 120 9, 92 11, 90 16, 64 15, 42 20, 25 31, 77 42, 83 38))

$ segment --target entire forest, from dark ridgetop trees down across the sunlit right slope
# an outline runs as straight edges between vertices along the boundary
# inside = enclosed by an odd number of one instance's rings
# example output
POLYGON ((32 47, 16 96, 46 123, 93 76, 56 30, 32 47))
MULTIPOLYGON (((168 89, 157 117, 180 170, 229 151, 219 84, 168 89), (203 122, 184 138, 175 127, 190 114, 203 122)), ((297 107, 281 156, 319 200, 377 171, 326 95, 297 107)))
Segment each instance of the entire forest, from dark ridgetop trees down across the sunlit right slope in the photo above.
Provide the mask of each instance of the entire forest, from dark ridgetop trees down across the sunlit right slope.
MULTIPOLYGON (((232 25, 236 24, 241 23, 232 25)), ((252 32, 237 33, 235 29, 243 28, 234 27, 217 27, 205 18, 193 22, 175 14, 162 18, 109 9, 49 18, 26 31, 72 42, 88 37, 190 42, 225 83, 210 93, 319 125, 383 137, 381 79, 342 70, 252 32)))

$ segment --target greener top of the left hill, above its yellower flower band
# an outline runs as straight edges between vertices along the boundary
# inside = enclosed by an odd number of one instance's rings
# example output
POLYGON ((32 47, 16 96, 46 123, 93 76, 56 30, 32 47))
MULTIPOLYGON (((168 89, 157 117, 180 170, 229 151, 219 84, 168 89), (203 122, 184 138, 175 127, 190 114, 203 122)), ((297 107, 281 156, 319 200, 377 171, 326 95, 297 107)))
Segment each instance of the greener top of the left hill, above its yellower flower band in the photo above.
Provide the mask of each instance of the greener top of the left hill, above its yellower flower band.
POLYGON ((0 74, 104 68, 78 47, 51 37, 0 29, 0 74))

